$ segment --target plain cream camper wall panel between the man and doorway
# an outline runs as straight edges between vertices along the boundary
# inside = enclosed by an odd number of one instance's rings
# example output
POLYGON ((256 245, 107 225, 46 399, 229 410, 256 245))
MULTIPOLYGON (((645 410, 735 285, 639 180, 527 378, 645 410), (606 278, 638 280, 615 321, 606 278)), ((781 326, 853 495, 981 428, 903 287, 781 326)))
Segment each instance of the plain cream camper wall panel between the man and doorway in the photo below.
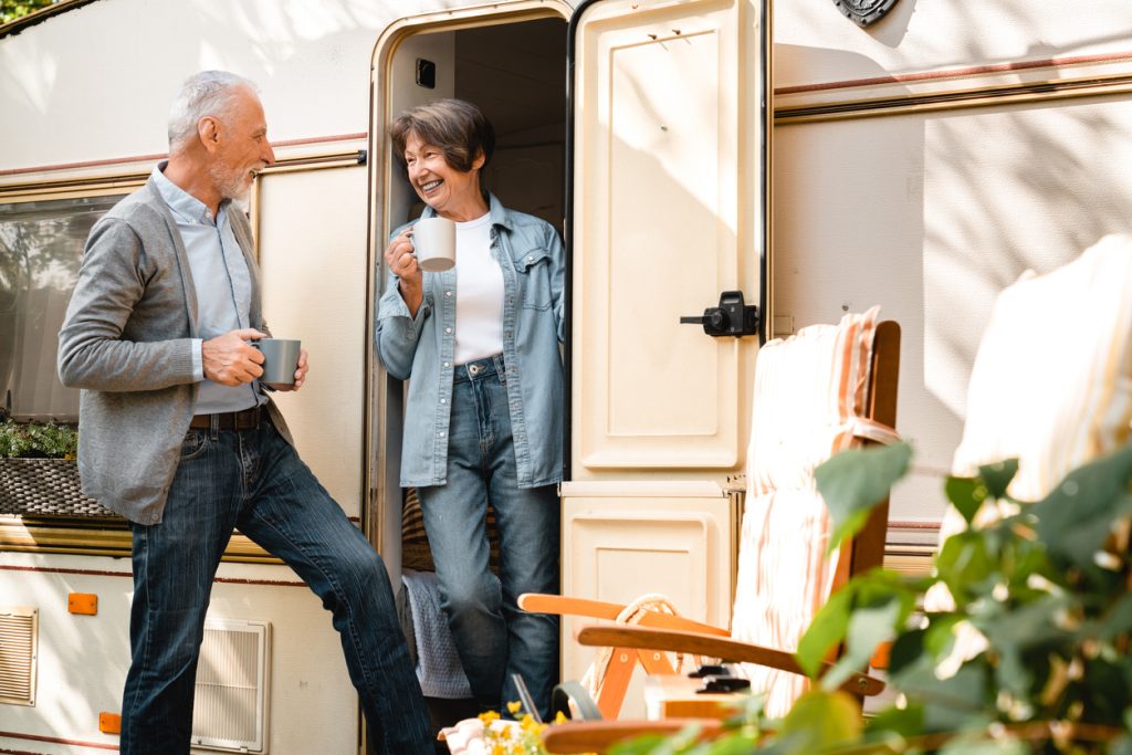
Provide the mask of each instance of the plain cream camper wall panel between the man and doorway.
POLYGON ((303 461, 358 517, 369 311, 366 169, 268 174, 257 199, 264 319, 276 337, 300 338, 310 360, 302 389, 274 400, 303 461))

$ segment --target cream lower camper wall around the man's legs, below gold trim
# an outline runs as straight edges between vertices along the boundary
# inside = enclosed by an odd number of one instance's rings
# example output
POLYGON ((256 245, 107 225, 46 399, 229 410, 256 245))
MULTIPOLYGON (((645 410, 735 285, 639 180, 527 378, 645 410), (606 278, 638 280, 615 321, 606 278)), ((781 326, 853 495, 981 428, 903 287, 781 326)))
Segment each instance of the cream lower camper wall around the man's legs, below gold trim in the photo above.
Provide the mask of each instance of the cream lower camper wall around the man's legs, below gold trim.
MULTIPOLYGON (((98 752, 83 743, 117 746, 117 736, 98 731, 98 713, 121 711, 132 590, 128 559, 0 554, 3 604, 40 609, 35 705, 3 705, 0 720, 5 732, 46 738, 0 737, 0 749, 65 755, 98 752), (97 615, 68 614, 71 592, 97 594, 97 615)), ((290 569, 221 565, 208 615, 273 624, 268 752, 358 752, 358 695, 337 636, 318 598, 290 569)))

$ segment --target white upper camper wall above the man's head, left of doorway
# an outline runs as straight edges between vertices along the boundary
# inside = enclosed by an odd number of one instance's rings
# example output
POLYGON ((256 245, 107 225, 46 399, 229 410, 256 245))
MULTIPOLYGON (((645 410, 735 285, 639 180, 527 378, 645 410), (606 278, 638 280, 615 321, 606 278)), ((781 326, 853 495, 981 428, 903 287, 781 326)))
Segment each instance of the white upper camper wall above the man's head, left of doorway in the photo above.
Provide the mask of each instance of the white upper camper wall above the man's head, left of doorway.
POLYGON ((0 44, 0 171, 163 154, 173 95, 206 68, 259 86, 273 143, 366 134, 380 33, 469 5, 114 0, 62 14, 0 44))

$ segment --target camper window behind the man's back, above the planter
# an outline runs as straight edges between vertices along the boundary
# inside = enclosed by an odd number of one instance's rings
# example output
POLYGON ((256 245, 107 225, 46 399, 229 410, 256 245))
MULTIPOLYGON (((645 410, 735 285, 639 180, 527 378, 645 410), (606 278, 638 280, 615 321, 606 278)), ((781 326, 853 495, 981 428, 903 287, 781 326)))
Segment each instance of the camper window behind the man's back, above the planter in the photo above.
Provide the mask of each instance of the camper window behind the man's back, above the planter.
POLYGON ((55 372, 59 328, 87 233, 120 198, 0 205, 0 398, 16 419, 78 417, 55 372))

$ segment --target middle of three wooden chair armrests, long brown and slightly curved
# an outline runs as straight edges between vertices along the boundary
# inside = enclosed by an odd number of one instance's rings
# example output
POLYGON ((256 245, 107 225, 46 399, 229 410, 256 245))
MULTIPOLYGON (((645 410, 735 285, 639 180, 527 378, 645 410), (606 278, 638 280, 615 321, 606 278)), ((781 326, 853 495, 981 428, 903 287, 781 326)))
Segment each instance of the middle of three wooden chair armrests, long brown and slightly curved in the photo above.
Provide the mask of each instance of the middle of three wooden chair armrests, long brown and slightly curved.
MULTIPOLYGON (((577 633, 577 641, 583 645, 663 650, 707 655, 732 663, 757 663, 805 676, 805 671, 798 666, 794 653, 693 632, 641 626, 588 626, 582 627, 577 633)), ((831 667, 832 663, 823 662, 822 672, 824 674, 831 667)), ((876 695, 884 689, 884 683, 864 674, 854 674, 841 685, 841 688, 856 695, 876 695)))

